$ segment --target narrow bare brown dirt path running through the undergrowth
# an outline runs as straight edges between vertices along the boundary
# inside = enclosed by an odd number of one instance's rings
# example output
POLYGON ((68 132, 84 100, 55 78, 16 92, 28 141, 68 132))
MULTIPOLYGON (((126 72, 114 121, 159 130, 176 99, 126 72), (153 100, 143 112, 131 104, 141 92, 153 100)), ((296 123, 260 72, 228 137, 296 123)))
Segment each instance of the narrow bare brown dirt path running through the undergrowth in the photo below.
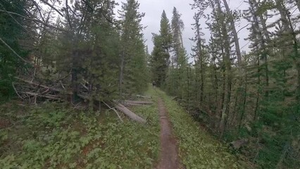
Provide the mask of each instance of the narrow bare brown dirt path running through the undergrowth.
POLYGON ((180 168, 176 140, 172 134, 172 127, 168 119, 168 114, 165 111, 165 106, 163 106, 163 101, 160 98, 158 99, 158 112, 161 124, 161 152, 159 154, 160 161, 157 169, 180 168))

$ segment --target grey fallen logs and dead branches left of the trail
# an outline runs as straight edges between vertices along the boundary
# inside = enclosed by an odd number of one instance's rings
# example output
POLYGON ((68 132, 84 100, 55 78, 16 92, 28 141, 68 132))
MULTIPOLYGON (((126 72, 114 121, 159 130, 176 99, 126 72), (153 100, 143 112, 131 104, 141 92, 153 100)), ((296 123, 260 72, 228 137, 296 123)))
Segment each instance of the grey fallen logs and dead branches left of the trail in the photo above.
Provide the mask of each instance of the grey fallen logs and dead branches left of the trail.
MULTIPOLYGON (((68 101, 68 98, 72 95, 72 93, 68 92, 66 85, 64 85, 61 81, 56 84, 42 84, 39 82, 34 82, 34 80, 25 80, 20 77, 15 77, 15 82, 12 84, 15 89, 15 93, 20 97, 20 99, 28 100, 30 104, 37 104, 40 101, 68 101)), ((88 87, 84 84, 80 84, 80 91, 78 96, 82 101, 89 101, 88 96, 88 87)), ((142 99, 151 99, 150 96, 142 96, 137 95, 137 98, 142 99)), ((98 104, 101 102, 106 105, 111 110, 115 111, 118 115, 118 118, 123 122, 118 114, 117 110, 127 115, 128 118, 137 121, 138 123, 146 123, 146 120, 139 117, 126 106, 139 106, 139 105, 149 105, 153 104, 152 101, 132 101, 132 100, 124 100, 124 101, 109 101, 108 103, 104 101, 98 101, 98 104)))

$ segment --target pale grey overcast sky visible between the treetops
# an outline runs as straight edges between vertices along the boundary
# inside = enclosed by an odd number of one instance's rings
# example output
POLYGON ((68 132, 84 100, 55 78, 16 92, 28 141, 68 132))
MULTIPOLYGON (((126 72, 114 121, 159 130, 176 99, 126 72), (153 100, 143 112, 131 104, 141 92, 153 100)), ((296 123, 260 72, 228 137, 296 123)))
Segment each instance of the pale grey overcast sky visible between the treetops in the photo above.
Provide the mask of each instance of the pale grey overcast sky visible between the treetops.
MULTIPOLYGON (((125 2, 126 0, 116 1, 120 4, 121 1, 125 2)), ((241 10, 244 10, 247 8, 247 4, 243 0, 227 0, 227 2, 228 4, 230 4, 230 8, 232 9, 239 8, 241 10)), ((191 24, 194 23, 193 15, 195 11, 192 11, 191 6, 189 5, 192 3, 193 0, 139 0, 139 11, 145 13, 145 17, 142 19, 142 24, 144 26, 147 26, 144 30, 144 38, 146 39, 146 45, 149 46, 149 52, 151 52, 153 49, 151 33, 159 32, 161 13, 163 13, 163 10, 165 10, 165 13, 167 13, 167 17, 169 18, 169 20, 171 20, 174 6, 182 14, 181 18, 185 23, 185 30, 182 36, 184 46, 187 49, 188 54, 192 52, 191 47, 193 44, 189 40, 189 38, 194 37, 194 31, 192 30, 191 24)), ((117 6, 117 8, 120 8, 120 6, 117 6)), ((205 20, 202 20, 201 26, 203 27, 203 32, 205 33, 204 37, 206 39, 206 42, 208 42, 208 39, 209 37, 211 37, 211 35, 210 32, 205 29, 207 25, 204 22, 205 20)), ((236 24, 237 30, 247 24, 248 23, 245 20, 242 20, 241 23, 236 24)), ((246 28, 239 32, 239 41, 241 48, 248 43, 244 41, 244 38, 246 38, 248 34, 249 33, 247 32, 246 28)), ((247 45, 242 50, 248 51, 247 45)))

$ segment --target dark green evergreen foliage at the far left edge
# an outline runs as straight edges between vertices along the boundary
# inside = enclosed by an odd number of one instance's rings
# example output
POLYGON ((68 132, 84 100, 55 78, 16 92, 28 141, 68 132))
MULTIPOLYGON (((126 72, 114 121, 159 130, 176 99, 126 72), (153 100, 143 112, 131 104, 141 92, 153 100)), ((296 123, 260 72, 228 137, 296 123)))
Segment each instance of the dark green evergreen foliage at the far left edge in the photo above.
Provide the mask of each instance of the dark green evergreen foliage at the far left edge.
MULTIPOLYGON (((19 15, 27 15, 26 1, 1 1, 0 7, 4 11, 13 11, 19 15)), ((7 12, 0 13, 0 101, 13 96, 12 83, 17 72, 23 72, 27 66, 24 58, 28 56, 25 43, 27 38, 26 22, 20 16, 13 16, 7 12)))

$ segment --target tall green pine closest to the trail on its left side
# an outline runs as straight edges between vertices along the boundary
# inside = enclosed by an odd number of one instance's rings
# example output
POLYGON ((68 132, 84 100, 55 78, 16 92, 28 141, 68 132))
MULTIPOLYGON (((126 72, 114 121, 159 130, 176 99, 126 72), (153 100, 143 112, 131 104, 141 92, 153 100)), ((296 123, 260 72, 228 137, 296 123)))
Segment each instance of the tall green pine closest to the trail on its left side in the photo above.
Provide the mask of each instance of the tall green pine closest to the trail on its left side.
POLYGON ((120 68, 120 94, 133 94, 146 89, 146 53, 141 25, 144 13, 139 3, 127 0, 119 11, 122 25, 122 56, 120 68))

